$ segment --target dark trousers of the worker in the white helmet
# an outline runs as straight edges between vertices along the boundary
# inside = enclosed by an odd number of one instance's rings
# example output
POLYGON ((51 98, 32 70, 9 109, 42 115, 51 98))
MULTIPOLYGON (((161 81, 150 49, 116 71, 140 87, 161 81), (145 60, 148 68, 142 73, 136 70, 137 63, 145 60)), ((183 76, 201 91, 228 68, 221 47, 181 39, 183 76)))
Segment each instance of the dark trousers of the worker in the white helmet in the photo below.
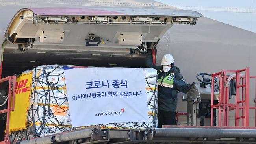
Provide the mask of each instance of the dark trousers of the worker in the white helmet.
POLYGON ((176 113, 172 111, 158 110, 158 128, 162 125, 176 125, 176 113))

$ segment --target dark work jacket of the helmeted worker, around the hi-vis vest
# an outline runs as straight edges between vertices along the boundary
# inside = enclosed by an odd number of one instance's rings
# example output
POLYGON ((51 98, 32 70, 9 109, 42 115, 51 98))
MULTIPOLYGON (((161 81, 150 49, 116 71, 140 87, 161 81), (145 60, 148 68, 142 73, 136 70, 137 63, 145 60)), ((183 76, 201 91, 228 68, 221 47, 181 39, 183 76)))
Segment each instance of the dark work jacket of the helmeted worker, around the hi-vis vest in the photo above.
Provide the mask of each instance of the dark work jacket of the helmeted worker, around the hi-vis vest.
POLYGON ((152 55, 147 55, 145 63, 148 68, 155 68, 158 70, 158 79, 160 79, 161 76, 165 78, 165 76, 168 76, 170 73, 174 73, 172 88, 158 86, 158 109, 176 112, 178 92, 180 91, 186 94, 189 91, 189 84, 183 80, 183 76, 180 74, 180 69, 173 66, 169 72, 164 72, 162 66, 153 64, 152 55))

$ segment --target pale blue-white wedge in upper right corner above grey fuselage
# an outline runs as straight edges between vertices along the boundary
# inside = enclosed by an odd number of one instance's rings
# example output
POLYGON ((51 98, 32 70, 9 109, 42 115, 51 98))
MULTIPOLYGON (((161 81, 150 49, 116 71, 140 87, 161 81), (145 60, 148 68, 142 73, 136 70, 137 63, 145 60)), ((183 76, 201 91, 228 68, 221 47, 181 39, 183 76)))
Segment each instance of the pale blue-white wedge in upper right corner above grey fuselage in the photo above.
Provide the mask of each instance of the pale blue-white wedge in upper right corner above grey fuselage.
POLYGON ((256 33, 256 0, 156 0, 256 33))

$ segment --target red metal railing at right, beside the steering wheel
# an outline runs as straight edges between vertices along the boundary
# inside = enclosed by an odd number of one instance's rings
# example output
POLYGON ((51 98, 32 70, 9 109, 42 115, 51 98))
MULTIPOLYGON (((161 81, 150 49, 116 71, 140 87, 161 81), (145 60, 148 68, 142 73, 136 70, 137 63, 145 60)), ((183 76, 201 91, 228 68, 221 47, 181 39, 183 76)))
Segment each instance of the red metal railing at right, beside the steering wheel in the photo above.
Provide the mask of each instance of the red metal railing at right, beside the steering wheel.
MULTIPOLYGON (((250 68, 245 68, 242 70, 221 70, 221 72, 212 74, 212 85, 211 88, 211 126, 213 126, 213 109, 219 110, 219 126, 229 126, 229 114, 230 110, 235 110, 235 126, 240 126, 240 119, 242 120, 241 126, 249 127, 249 114, 250 109, 255 109, 255 107, 250 107, 250 78, 255 78, 256 76, 250 76, 250 68), (245 75, 241 75, 244 72, 245 75), (232 104, 229 102, 229 90, 227 87, 227 79, 230 73, 236 74, 236 102, 232 104), (214 77, 219 78, 219 102, 218 104, 213 104, 214 96, 214 77), (242 91, 240 91, 242 88, 242 91), (242 94, 240 94, 240 92, 242 94), (242 115, 240 115, 242 111, 242 115), (221 123, 222 122, 222 123, 221 123)), ((256 90, 256 88, 255 88, 256 90)), ((255 94, 256 98, 256 94, 255 94)), ((256 126, 256 122, 255 122, 256 126)))

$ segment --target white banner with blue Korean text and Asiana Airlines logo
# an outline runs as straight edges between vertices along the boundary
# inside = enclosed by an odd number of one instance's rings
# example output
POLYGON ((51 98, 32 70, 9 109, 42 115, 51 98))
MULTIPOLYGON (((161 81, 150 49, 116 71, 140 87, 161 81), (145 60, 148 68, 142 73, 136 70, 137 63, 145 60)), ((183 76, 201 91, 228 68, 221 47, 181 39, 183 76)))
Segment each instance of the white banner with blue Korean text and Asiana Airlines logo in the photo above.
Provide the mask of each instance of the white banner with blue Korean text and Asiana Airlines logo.
POLYGON ((149 122, 142 68, 63 68, 72 127, 149 122))

